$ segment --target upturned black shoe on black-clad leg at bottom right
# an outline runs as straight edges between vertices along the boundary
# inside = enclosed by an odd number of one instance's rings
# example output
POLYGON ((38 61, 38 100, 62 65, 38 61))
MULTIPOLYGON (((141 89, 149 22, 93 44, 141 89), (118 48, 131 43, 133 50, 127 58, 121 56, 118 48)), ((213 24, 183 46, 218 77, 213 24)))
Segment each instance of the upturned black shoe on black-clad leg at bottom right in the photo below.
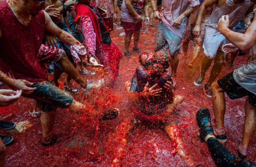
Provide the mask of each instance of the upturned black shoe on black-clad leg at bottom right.
POLYGON ((196 122, 199 127, 200 138, 205 142, 204 138, 209 134, 214 134, 211 126, 211 115, 208 108, 201 108, 196 113, 196 122))

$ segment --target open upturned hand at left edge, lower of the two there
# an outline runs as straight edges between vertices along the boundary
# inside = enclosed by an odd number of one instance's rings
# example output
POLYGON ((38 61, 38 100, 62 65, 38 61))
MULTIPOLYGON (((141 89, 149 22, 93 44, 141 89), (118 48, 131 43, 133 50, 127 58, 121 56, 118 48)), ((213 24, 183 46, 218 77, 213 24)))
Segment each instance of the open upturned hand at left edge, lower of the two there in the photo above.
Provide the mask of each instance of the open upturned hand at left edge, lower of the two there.
POLYGON ((9 106, 10 104, 16 102, 19 99, 21 93, 22 90, 13 91, 7 89, 0 89, 0 107, 9 106))

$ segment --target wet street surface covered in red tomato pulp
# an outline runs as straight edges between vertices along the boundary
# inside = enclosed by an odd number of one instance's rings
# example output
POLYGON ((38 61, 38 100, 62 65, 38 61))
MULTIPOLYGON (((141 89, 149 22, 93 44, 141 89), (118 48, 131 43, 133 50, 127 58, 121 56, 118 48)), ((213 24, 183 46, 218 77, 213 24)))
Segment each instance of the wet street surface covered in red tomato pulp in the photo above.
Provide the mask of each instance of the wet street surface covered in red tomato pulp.
MULTIPOLYGON (((153 24, 153 28, 148 28, 147 26, 148 31, 141 33, 139 41, 139 48, 141 50, 149 49, 153 51, 157 22, 154 21, 153 24)), ((123 31, 115 30, 111 33, 111 36, 123 52, 124 36, 119 36, 121 32, 123 31)), ((190 43, 189 45, 193 47, 194 44, 190 43)), ((132 47, 133 42, 131 42, 130 50, 132 50, 132 47)), ((206 144, 202 143, 199 139, 195 116, 199 108, 206 106, 210 108, 212 122, 214 122, 212 99, 207 98, 203 92, 203 85, 209 77, 210 70, 208 70, 202 86, 194 86, 193 81, 199 75, 202 55, 196 61, 195 68, 189 69, 186 64, 191 59, 192 47, 188 50, 188 59, 184 59, 183 54, 179 55, 180 64, 177 70, 177 77, 175 78, 177 87, 174 92, 175 94, 183 94, 185 100, 176 108, 174 115, 177 116, 177 124, 182 132, 182 138, 195 164, 215 166, 206 144)), ((246 56, 238 56, 232 68, 225 63, 218 78, 245 63, 246 56)), ((97 136, 95 136, 95 129, 91 130, 84 123, 83 116, 73 114, 69 110, 58 109, 53 131, 54 135, 59 136, 60 139, 53 146, 43 147, 40 143, 42 137, 40 119, 31 118, 29 113, 34 110, 34 101, 32 99, 20 98, 13 105, 0 108, 1 115, 11 112, 16 113, 16 116, 13 116, 10 121, 27 121, 23 124, 25 126, 17 128, 19 131, 0 131, 3 135, 12 135, 15 140, 13 144, 7 147, 6 166, 110 166, 115 149, 117 148, 112 140, 115 127, 120 120, 131 116, 128 99, 124 90, 124 82, 127 80, 131 81, 137 65, 138 53, 132 53, 131 58, 124 57, 121 60, 119 71, 121 76, 117 78, 113 92, 99 91, 89 97, 84 96, 82 93, 74 96, 79 102, 93 104, 97 110, 108 110, 114 107, 120 109, 121 114, 117 119, 99 122, 97 136)), ((100 71, 97 72, 99 75, 100 73, 100 71)), ((65 76, 61 77, 61 83, 63 83, 65 76)), ((95 77, 90 76, 88 79, 95 80, 95 77)), ((226 96, 225 126, 228 140, 225 146, 236 155, 236 148, 242 136, 245 116, 244 104, 245 98, 230 100, 226 96)), ((141 123, 136 130, 128 135, 127 140, 128 145, 121 161, 123 166, 187 166, 178 154, 173 156, 170 153, 172 150, 170 139, 161 127, 156 124, 141 123)), ((247 159, 256 163, 255 134, 251 140, 247 159)))

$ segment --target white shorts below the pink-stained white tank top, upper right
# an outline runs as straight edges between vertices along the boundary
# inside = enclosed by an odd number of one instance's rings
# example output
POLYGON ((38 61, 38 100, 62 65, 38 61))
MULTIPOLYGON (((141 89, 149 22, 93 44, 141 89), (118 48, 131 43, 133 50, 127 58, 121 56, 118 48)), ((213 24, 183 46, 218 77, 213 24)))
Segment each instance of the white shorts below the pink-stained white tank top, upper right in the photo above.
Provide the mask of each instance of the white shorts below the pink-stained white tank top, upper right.
MULTIPOLYGON (((228 43, 230 42, 222 34, 204 37, 204 43, 203 43, 204 54, 209 59, 214 59, 217 54, 217 51, 221 50, 222 46, 228 43)), ((224 57, 225 56, 226 55, 224 54, 224 57)))

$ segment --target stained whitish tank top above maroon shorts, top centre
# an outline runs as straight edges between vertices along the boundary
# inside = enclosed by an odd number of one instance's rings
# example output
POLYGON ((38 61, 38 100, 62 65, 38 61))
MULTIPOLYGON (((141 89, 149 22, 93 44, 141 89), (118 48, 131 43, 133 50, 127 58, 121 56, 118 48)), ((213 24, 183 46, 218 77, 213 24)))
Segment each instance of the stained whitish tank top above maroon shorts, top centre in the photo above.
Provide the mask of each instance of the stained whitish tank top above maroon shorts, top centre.
MULTIPOLYGON (((141 16, 142 10, 144 7, 144 0, 133 0, 132 7, 141 16)), ((136 17, 130 14, 128 8, 126 7, 125 0, 123 0, 123 4, 121 6, 121 17, 122 17, 122 21, 124 22, 138 23, 138 20, 136 19, 136 17)))

